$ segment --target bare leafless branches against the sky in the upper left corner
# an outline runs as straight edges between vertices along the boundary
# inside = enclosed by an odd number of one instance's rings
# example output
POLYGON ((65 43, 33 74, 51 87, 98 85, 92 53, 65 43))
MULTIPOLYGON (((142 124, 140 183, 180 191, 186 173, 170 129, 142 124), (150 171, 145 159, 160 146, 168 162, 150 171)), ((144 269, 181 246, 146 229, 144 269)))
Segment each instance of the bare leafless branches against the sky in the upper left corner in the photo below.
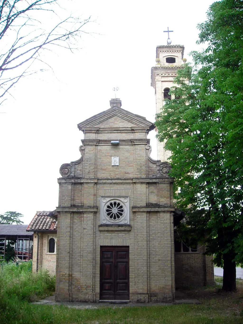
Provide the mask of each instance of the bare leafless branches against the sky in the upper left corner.
POLYGON ((77 48, 90 17, 59 17, 60 0, 0 0, 0 104, 21 77, 36 73, 43 51, 77 48))

